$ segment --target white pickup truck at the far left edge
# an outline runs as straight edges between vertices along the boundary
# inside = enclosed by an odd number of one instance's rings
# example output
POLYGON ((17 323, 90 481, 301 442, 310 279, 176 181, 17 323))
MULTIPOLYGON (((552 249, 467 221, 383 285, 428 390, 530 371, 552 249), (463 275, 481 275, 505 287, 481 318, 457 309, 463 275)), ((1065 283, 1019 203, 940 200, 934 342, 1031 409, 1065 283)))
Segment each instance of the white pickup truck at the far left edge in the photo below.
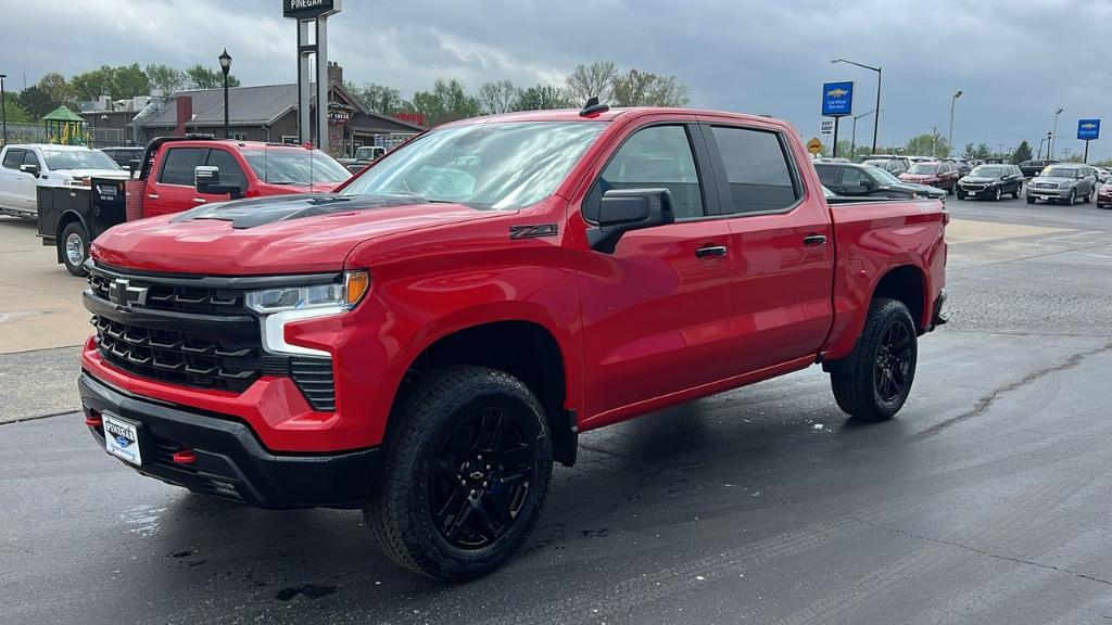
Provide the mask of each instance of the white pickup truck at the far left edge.
POLYGON ((81 146, 27 143, 0 150, 0 215, 33 218, 38 214, 37 187, 85 187, 89 179, 126 180, 108 155, 81 146))

